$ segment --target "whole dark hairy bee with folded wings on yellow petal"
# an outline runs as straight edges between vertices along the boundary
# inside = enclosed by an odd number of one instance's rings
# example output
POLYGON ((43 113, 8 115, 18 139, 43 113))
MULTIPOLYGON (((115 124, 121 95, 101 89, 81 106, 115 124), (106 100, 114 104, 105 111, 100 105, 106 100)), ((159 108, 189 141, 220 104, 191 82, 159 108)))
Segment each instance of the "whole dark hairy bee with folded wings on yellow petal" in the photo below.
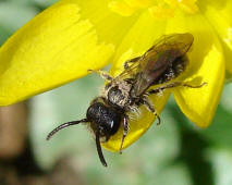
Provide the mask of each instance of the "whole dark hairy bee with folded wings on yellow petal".
POLYGON ((123 135, 119 148, 122 151, 129 133, 129 113, 137 112, 141 106, 145 106, 156 115, 158 124, 160 123, 160 118, 149 101, 149 95, 178 86, 199 88, 204 85, 191 86, 172 81, 185 71, 188 64, 186 53, 193 41, 194 37, 188 33, 164 35, 143 55, 125 61, 124 71, 115 77, 103 71, 90 70, 107 81, 102 95, 90 102, 85 119, 61 124, 48 134, 47 140, 62 128, 87 123, 95 135, 99 159, 107 166, 100 143, 108 141, 122 126, 123 135))

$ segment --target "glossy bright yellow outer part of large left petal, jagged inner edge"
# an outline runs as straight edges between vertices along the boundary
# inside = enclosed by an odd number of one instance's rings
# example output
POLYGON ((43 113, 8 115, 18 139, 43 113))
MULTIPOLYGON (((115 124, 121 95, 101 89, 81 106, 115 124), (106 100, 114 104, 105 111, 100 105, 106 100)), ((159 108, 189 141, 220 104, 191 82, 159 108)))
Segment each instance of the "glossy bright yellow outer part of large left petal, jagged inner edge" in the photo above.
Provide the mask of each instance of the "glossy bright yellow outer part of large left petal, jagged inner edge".
POLYGON ((57 3, 17 30, 0 49, 0 104, 7 106, 100 69, 113 45, 99 42, 74 1, 57 3))

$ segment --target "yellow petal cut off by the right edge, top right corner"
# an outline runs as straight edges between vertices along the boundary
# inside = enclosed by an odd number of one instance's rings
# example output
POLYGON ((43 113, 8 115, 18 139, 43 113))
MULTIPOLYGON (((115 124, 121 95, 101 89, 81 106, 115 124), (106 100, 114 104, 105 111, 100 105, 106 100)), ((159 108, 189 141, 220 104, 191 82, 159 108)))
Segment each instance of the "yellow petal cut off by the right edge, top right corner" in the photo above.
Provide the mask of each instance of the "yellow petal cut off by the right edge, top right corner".
POLYGON ((225 67, 232 74, 232 1, 199 1, 200 11, 221 38, 225 67))

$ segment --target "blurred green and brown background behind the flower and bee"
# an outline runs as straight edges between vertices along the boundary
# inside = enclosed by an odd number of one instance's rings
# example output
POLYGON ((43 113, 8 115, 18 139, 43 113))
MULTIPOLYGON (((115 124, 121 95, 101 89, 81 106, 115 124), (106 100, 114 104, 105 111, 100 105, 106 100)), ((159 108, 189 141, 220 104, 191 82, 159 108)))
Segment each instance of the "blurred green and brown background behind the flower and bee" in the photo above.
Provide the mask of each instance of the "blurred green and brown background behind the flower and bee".
MULTIPOLYGON (((0 0, 0 45, 52 2, 54 0, 0 0)), ((46 135, 54 126, 85 116, 88 103, 102 84, 98 76, 89 75, 36 96, 24 102, 25 107, 16 107, 19 114, 19 110, 25 109, 21 127, 27 122, 27 132, 14 155, 2 157, 5 149, 0 147, 0 184, 232 184, 232 84, 224 86, 208 128, 194 126, 171 98, 161 113, 160 126, 154 124, 123 155, 103 151, 108 168, 99 162, 95 140, 84 125, 62 131, 46 141, 46 135)), ((0 109, 0 131, 5 128, 1 119, 8 115, 5 109, 11 108, 0 109)), ((14 123, 13 127, 16 127, 14 123)), ((4 143, 3 139, 0 136, 0 143, 4 143)))

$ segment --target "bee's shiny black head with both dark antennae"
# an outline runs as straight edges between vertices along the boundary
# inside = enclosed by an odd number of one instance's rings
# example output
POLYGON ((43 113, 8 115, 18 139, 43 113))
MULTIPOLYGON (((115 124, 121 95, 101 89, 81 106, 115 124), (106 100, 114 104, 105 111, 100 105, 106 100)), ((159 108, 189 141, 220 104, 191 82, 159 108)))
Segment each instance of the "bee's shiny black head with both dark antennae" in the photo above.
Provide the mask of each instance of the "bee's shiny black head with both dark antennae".
POLYGON ((103 158, 100 146, 100 139, 103 138, 106 141, 110 138, 110 136, 115 134, 120 127, 122 113, 120 113, 119 110, 108 106, 103 98, 99 97, 96 98, 89 106, 86 113, 86 119, 61 124, 48 134, 47 140, 49 140, 56 133, 65 127, 77 125, 80 123, 89 123, 96 136, 96 146, 99 159, 101 163, 107 166, 107 162, 103 158))

